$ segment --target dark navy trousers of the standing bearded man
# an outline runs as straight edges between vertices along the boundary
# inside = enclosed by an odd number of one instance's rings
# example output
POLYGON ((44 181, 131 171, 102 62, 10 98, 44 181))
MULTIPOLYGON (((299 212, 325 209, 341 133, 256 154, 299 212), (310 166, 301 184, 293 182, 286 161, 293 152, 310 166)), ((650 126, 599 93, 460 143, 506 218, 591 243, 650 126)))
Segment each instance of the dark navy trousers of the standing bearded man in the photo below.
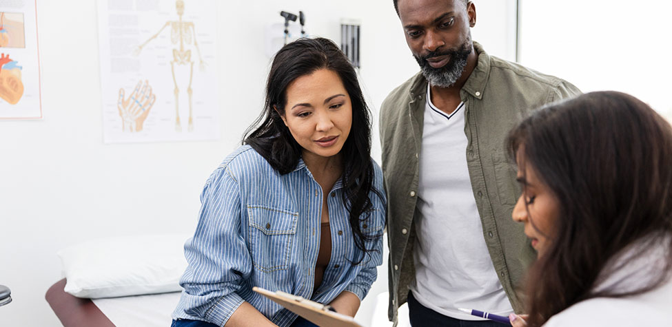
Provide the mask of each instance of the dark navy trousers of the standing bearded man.
POLYGON ((420 304, 413 293, 408 293, 408 317, 411 326, 442 326, 442 327, 501 327, 505 326, 491 320, 460 320, 442 315, 420 304))

